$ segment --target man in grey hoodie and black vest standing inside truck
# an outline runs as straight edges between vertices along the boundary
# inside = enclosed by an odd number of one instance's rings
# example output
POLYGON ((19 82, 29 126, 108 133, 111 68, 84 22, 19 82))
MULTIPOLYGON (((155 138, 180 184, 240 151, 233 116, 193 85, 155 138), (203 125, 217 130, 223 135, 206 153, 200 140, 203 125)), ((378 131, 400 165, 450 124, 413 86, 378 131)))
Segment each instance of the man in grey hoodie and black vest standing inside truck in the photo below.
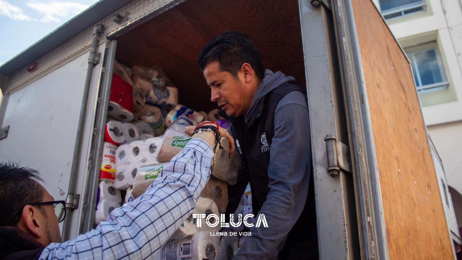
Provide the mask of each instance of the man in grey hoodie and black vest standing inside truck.
POLYGON ((317 259, 305 87, 280 71, 264 70, 260 51, 237 31, 207 43, 198 65, 211 100, 231 120, 241 157, 226 213, 234 213, 250 182, 254 215, 265 214, 269 226, 250 229, 234 259, 317 259))

